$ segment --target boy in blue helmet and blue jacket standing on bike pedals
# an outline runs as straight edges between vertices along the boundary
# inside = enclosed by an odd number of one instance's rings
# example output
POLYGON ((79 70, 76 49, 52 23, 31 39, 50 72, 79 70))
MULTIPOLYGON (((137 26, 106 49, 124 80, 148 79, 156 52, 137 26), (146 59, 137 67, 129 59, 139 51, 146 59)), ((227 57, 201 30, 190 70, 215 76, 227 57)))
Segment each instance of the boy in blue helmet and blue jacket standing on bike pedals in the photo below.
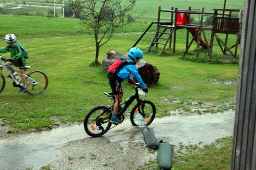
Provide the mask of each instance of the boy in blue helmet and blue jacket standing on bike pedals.
POLYGON ((137 80, 137 82, 140 84, 143 91, 146 93, 148 92, 147 85, 142 81, 142 78, 139 75, 139 72, 135 66, 137 62, 140 61, 140 59, 143 58, 143 53, 140 49, 133 47, 128 52, 128 62, 133 62, 134 65, 124 65, 123 68, 119 72, 117 72, 117 76, 114 79, 109 79, 109 85, 112 88, 112 91, 114 92, 116 96, 116 102, 114 104, 114 110, 112 117, 110 119, 111 123, 121 123, 121 121, 117 118, 117 113, 119 111, 119 103, 122 102, 123 98, 123 90, 121 87, 121 82, 123 82, 123 79, 127 79, 130 84, 133 84, 133 79, 130 77, 130 74, 133 74, 133 77, 137 80))

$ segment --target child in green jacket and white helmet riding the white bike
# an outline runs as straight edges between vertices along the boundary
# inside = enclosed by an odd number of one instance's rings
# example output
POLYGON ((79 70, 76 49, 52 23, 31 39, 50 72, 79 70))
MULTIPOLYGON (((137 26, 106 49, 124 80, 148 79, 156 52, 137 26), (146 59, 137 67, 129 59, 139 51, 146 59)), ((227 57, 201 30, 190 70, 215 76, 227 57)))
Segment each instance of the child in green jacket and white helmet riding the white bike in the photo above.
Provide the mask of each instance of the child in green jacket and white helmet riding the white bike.
MULTIPOLYGON (((7 42, 8 46, 0 49, 0 53, 6 53, 6 52, 11 53, 11 59, 7 60, 8 61, 7 64, 15 65, 16 67, 19 67, 19 75, 24 84, 19 90, 19 93, 24 93, 25 91, 28 90, 26 85, 26 77, 24 76, 26 59, 23 56, 23 51, 21 50, 21 47, 19 47, 19 44, 17 44, 16 42, 16 37, 14 34, 5 35, 5 41, 7 42)), ((14 70, 12 70, 11 68, 10 70, 14 72, 14 70)), ((11 77, 11 76, 7 75, 7 77, 11 77)))

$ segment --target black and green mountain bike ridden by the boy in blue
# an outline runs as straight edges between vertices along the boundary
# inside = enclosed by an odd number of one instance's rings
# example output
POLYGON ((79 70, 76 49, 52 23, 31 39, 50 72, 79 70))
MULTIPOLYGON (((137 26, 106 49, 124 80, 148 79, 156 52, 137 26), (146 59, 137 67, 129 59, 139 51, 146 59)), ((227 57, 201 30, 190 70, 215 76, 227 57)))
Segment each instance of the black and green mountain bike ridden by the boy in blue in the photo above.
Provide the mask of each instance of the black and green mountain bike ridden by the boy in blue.
MULTIPOLYGON (((145 100, 146 93, 144 92, 144 99, 140 98, 139 93, 142 92, 142 88, 138 83, 133 83, 136 86, 134 87, 135 93, 133 93, 130 97, 128 97, 126 100, 122 101, 120 105, 124 105, 123 108, 118 112, 117 117, 120 119, 121 122, 124 120, 124 112, 127 110, 127 108, 133 103, 133 101, 136 99, 137 103, 133 107, 133 109, 130 112, 130 121, 133 124, 133 126, 149 126, 150 123, 154 120, 154 117, 156 115, 156 107, 155 105, 149 101, 145 100)), ((88 114, 85 116, 84 120, 84 129, 85 132, 92 136, 92 137, 99 137, 107 133, 108 130, 111 129, 111 125, 114 124, 112 128, 119 125, 116 123, 111 123, 110 118, 113 113, 114 109, 114 103, 116 102, 116 98, 114 95, 114 92, 104 92, 104 95, 107 95, 108 97, 113 100, 113 105, 111 106, 97 106, 88 112, 88 114)))

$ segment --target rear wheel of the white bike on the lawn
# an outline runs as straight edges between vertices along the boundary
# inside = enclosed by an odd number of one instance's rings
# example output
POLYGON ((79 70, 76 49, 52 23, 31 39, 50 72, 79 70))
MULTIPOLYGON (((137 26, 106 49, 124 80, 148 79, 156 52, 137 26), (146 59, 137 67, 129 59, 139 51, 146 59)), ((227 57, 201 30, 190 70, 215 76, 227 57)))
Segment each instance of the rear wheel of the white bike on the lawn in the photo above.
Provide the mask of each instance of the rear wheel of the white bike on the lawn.
POLYGON ((31 77, 36 82, 38 82, 37 85, 32 85, 33 82, 31 79, 26 78, 26 84, 28 86, 28 90, 26 91, 29 94, 32 95, 38 95, 43 93, 47 86, 48 86, 48 78, 46 74, 40 70, 33 70, 27 74, 28 77, 31 77))

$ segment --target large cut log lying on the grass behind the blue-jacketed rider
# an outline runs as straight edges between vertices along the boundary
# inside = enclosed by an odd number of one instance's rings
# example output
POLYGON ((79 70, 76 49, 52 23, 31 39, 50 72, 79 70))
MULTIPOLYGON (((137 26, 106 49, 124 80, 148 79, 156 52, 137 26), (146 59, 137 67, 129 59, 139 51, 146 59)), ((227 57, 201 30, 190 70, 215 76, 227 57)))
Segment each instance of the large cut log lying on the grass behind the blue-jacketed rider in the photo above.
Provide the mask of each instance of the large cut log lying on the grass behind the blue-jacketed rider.
MULTIPOLYGON (((119 53, 118 51, 111 49, 107 53, 107 56, 103 59, 102 68, 104 70, 109 70, 109 67, 119 58, 129 58, 128 54, 119 53)), ((156 84, 159 81, 160 73, 156 69, 156 66, 152 65, 147 61, 140 60, 136 67, 138 72, 145 84, 151 86, 156 84)), ((131 77, 134 79, 133 75, 131 77)), ((135 79, 134 79, 135 80, 135 79)), ((136 81, 136 80, 135 80, 136 81)))

